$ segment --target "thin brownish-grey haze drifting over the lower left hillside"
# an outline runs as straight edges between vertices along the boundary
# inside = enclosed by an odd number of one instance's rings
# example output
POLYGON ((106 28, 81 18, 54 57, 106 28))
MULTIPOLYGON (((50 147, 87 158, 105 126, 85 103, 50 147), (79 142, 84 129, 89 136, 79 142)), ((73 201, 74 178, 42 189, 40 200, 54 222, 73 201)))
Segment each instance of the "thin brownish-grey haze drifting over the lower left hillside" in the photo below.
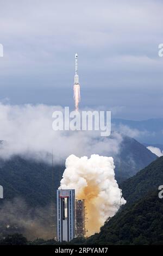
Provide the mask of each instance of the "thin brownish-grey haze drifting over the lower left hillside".
POLYGON ((5 202, 0 208, 0 233, 21 233, 28 240, 52 239, 56 236, 52 208, 31 208, 21 198, 5 202))

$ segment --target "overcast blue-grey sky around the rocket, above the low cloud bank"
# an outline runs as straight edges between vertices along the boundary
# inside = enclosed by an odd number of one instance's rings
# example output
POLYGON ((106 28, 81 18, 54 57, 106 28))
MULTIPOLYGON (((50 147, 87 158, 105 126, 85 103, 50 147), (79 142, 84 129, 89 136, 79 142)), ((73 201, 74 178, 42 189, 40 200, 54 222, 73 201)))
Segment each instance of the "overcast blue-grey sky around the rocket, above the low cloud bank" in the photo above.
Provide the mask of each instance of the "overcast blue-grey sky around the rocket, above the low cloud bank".
POLYGON ((0 100, 81 107, 114 117, 162 117, 163 2, 0 0, 0 100))

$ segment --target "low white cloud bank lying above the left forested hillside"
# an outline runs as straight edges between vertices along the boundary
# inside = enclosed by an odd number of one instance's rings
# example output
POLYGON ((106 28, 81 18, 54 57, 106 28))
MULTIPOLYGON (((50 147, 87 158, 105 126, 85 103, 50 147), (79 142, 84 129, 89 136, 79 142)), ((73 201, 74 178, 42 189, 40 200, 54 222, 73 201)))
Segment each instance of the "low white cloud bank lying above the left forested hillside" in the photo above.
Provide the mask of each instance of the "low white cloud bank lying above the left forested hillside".
POLYGON ((8 159, 12 155, 49 160, 47 153, 53 152, 55 161, 66 159, 70 154, 117 154, 122 136, 100 137, 92 131, 54 131, 52 114, 63 111, 60 106, 4 105, 0 103, 0 156, 8 159), (97 139, 98 137, 98 139, 97 139), (63 147, 64 145, 64 147, 63 147))

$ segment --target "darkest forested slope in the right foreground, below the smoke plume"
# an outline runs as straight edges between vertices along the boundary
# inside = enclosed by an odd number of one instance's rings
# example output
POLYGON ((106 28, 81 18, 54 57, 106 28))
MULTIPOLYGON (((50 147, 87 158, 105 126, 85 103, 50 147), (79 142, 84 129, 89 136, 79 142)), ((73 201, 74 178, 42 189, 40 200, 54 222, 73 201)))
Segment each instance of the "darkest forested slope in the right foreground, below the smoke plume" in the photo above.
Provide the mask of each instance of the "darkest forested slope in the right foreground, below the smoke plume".
MULTIPOLYGON (((74 241, 75 242, 75 241, 74 241)), ((87 245, 163 245, 163 199, 158 191, 128 204, 84 241, 87 245)))

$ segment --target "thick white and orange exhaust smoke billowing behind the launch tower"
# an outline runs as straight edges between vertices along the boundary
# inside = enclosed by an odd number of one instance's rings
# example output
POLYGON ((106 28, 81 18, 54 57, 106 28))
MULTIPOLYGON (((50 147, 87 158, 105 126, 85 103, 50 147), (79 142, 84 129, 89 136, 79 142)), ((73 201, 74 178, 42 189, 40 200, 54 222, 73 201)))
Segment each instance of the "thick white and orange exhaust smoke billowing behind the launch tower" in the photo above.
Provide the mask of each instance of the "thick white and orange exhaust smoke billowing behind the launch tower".
MULTIPOLYGON (((114 173, 112 157, 91 155, 66 159, 66 169, 60 182, 62 189, 75 189, 77 199, 85 199, 87 234, 91 235, 103 225, 108 217, 120 208, 120 188, 114 173)), ((122 198, 122 203, 126 201, 122 198)))

